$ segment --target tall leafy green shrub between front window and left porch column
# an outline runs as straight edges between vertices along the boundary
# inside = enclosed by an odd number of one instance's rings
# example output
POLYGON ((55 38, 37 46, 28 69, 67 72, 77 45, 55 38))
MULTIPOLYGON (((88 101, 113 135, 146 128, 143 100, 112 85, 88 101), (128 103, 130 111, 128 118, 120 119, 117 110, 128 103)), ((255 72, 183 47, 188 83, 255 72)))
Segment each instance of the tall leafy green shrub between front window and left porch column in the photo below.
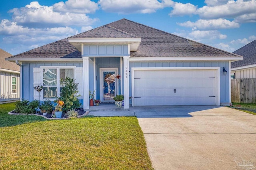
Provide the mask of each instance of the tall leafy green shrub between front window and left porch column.
POLYGON ((62 90, 60 92, 60 98, 64 102, 62 111, 65 113, 70 109, 76 109, 80 107, 78 100, 78 84, 74 82, 74 79, 66 77, 65 80, 60 80, 62 90))

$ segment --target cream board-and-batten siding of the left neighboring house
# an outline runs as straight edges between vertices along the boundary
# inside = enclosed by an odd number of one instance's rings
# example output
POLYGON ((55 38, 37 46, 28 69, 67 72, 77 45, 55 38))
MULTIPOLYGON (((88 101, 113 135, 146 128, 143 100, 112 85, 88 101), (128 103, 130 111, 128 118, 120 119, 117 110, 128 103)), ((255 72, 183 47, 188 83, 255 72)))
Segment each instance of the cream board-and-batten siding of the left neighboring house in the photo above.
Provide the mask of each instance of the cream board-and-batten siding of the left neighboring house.
MULTIPOLYGON (((11 72, 2 72, 0 71, 0 96, 10 95, 10 99, 19 99, 20 98, 20 74, 11 73, 11 72), (17 93, 12 93, 12 77, 17 78, 17 93)), ((4 99, 5 100, 5 99, 4 99)), ((5 101, 8 101, 5 100, 5 101)))

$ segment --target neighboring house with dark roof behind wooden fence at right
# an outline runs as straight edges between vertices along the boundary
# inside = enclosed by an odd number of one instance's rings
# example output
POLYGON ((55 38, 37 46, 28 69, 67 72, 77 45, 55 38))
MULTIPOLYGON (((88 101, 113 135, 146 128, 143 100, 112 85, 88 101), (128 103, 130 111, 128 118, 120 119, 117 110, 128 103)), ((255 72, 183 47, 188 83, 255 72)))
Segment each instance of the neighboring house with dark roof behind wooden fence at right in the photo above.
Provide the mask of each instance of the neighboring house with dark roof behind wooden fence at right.
POLYGON ((231 63, 232 78, 256 78, 256 40, 233 52, 243 60, 231 63))

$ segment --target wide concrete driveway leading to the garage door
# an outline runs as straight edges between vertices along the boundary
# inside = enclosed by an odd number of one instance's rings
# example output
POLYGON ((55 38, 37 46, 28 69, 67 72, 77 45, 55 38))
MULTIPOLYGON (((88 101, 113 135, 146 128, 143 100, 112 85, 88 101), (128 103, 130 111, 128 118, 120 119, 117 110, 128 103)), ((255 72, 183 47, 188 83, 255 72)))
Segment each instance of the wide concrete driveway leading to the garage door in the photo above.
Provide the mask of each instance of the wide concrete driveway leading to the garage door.
POLYGON ((256 115, 218 106, 130 110, 156 170, 256 169, 256 115))

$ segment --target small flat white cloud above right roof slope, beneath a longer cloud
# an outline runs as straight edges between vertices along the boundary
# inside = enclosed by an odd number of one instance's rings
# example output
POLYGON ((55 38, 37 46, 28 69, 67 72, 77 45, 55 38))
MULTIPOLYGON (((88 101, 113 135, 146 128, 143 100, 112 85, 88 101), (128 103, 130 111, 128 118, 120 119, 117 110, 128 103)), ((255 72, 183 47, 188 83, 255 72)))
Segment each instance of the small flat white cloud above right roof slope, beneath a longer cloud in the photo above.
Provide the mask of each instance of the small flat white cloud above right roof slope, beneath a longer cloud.
POLYGON ((192 31, 188 34, 190 39, 194 40, 201 40, 201 39, 226 39, 227 35, 221 34, 217 30, 210 30, 210 31, 192 31))

